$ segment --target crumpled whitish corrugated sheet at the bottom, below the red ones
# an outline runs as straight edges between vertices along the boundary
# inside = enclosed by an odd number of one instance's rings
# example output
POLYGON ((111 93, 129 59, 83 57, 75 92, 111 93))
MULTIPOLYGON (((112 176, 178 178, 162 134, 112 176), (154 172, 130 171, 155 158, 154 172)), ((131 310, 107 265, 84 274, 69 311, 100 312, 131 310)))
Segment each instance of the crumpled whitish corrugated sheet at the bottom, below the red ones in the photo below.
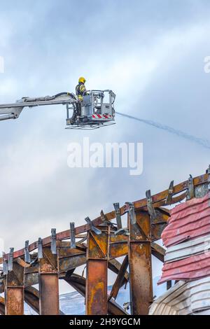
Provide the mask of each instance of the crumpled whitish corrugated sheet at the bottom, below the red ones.
POLYGON ((210 315, 210 277, 179 281, 153 304, 150 315, 210 315))

